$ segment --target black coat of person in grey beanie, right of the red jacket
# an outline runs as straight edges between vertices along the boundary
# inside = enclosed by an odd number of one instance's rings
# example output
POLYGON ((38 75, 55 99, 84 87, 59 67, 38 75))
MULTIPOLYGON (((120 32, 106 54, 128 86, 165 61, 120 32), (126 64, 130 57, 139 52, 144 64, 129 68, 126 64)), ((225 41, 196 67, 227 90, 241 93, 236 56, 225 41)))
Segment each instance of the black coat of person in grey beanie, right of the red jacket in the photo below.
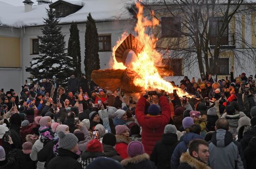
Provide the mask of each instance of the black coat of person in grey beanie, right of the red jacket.
POLYGON ((150 160, 155 163, 157 169, 171 168, 171 156, 178 143, 177 135, 173 133, 164 134, 162 140, 156 142, 150 160))

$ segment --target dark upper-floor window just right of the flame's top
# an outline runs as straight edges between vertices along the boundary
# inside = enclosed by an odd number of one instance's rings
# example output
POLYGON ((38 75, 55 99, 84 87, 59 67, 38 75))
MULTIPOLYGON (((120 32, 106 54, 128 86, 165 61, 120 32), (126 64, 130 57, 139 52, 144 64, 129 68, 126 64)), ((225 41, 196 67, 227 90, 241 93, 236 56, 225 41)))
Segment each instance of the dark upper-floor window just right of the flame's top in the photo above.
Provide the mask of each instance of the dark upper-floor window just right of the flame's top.
POLYGON ((162 17, 162 38, 181 37, 181 18, 162 17))

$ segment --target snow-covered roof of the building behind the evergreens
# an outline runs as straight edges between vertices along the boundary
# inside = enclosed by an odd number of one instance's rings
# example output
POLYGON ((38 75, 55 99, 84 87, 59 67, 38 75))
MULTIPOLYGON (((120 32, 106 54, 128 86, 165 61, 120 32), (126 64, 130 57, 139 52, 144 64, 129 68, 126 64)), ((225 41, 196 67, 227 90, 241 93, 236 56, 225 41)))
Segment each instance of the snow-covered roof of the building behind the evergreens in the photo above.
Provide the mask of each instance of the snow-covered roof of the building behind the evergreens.
MULTIPOLYGON (((128 20, 132 15, 127 7, 134 3, 133 0, 65 0, 74 5, 83 7, 76 13, 60 18, 60 23, 85 22, 88 13, 96 21, 103 20, 128 20)), ((43 18, 47 17, 45 8, 49 4, 33 5, 32 10, 25 12, 24 6, 12 6, 0 1, 0 26, 36 26, 43 25, 43 18)))

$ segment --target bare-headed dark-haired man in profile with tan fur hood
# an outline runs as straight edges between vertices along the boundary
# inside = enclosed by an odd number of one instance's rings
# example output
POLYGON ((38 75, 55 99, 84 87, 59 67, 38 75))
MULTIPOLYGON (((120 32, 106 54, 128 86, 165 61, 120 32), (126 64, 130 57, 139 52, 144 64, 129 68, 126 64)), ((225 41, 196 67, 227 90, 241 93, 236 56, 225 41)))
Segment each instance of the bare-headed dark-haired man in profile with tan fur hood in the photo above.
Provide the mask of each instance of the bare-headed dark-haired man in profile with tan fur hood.
POLYGON ((189 152, 182 154, 178 169, 210 169, 207 165, 208 158, 208 143, 201 139, 195 139, 189 143, 189 152))

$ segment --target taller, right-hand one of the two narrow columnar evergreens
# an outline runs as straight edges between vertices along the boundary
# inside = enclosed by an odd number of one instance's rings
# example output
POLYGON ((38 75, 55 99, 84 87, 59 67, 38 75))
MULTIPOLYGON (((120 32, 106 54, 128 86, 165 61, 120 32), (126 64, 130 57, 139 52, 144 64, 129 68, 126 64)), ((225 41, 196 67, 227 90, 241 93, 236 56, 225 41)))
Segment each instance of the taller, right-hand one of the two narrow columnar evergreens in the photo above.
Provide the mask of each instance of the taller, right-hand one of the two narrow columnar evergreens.
POLYGON ((91 73, 94 70, 100 69, 99 58, 99 37, 94 19, 91 13, 87 16, 86 31, 85 31, 85 57, 84 70, 85 76, 91 80, 91 73))

